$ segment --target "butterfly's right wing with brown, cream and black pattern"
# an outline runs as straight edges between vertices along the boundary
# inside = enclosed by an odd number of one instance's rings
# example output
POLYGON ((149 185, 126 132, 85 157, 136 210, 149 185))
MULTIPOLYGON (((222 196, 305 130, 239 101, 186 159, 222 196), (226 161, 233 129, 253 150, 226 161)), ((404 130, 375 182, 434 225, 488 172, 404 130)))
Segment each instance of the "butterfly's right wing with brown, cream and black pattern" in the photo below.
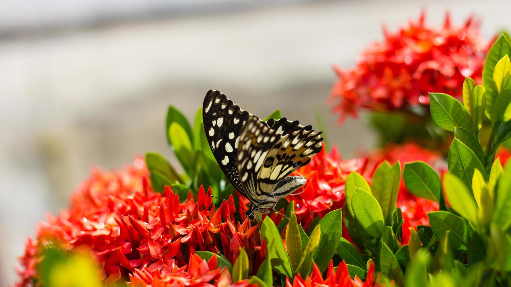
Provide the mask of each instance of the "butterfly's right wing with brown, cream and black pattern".
POLYGON ((291 193, 299 182, 305 184, 305 178, 286 180, 286 177, 308 164, 321 150, 320 134, 298 121, 283 118, 269 128, 257 118, 249 117, 240 135, 238 150, 238 172, 247 198, 261 203, 268 197, 291 193), (285 181, 279 184, 283 179, 285 181))

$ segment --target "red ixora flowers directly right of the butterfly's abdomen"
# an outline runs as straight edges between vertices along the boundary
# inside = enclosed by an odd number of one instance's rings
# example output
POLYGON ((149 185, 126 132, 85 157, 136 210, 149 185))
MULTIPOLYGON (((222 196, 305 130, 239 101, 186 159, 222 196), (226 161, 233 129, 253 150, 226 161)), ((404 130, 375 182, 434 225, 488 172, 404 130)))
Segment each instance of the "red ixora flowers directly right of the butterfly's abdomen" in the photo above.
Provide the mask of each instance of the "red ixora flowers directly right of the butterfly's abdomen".
POLYGON ((307 230, 311 221, 344 206, 344 184, 352 171, 364 174, 367 160, 363 158, 342 161, 334 146, 329 153, 321 149, 311 162, 293 175, 304 176, 307 184, 288 196, 295 202, 298 222, 307 230))

